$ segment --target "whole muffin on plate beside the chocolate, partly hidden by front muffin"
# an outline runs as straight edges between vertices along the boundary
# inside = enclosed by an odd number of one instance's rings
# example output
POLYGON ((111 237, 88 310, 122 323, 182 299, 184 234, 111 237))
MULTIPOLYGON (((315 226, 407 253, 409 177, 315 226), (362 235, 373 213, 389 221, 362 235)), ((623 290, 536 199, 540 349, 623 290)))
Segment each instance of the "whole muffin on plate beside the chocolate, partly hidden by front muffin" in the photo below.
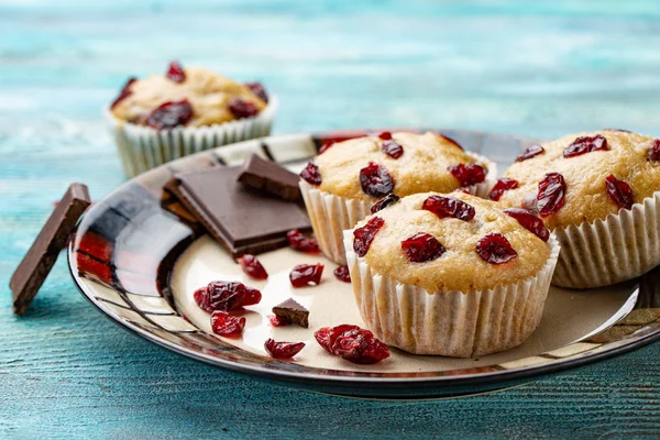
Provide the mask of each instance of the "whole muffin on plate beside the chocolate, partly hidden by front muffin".
POLYGON ((485 196, 496 174, 494 163, 440 134, 383 132, 321 150, 300 173, 300 189, 321 251, 345 264, 343 230, 374 204, 459 188, 485 196))

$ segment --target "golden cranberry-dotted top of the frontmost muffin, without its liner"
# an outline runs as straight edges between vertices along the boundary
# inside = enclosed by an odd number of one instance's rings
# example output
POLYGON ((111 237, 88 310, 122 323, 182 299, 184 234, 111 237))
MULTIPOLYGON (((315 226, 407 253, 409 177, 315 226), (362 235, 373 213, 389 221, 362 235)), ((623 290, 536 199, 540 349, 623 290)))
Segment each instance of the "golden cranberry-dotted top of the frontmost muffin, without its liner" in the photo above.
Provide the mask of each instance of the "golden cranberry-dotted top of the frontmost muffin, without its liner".
POLYGON ((550 256, 548 239, 541 220, 522 209, 506 213, 462 191, 425 193, 359 222, 353 250, 402 284, 468 292, 535 276, 550 256))

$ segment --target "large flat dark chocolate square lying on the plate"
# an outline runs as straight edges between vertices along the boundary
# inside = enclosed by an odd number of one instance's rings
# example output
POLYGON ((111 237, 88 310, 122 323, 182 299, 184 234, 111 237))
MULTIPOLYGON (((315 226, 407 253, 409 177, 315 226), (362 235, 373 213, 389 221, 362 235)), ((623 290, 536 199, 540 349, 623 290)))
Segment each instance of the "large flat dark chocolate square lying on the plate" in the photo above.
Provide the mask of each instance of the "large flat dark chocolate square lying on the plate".
POLYGON ((240 173, 218 167, 177 174, 166 187, 234 257, 284 248, 288 231, 311 229, 298 205, 245 188, 240 173))

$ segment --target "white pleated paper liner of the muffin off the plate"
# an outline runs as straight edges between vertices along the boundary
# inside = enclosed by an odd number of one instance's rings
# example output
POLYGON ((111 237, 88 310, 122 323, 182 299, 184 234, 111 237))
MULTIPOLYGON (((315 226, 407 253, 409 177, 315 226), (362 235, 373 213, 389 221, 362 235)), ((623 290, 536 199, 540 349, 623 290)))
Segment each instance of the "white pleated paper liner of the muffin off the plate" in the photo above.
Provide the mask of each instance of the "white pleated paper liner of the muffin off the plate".
POLYGON ((121 121, 109 108, 105 116, 117 143, 124 173, 128 177, 134 177, 188 154, 271 134, 277 105, 277 97, 271 96, 266 108, 254 118, 172 130, 155 130, 121 121))

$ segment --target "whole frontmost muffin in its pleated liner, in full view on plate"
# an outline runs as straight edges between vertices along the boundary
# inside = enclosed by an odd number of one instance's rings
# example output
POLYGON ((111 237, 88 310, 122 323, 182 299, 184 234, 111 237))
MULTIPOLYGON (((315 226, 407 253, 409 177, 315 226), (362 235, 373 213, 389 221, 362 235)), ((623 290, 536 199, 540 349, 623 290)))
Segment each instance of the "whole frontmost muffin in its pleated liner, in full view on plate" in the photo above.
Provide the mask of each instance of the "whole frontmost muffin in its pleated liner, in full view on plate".
POLYGON ((415 354, 472 358, 537 328, 559 255, 524 209, 455 191, 416 194, 344 232, 362 319, 415 354))

